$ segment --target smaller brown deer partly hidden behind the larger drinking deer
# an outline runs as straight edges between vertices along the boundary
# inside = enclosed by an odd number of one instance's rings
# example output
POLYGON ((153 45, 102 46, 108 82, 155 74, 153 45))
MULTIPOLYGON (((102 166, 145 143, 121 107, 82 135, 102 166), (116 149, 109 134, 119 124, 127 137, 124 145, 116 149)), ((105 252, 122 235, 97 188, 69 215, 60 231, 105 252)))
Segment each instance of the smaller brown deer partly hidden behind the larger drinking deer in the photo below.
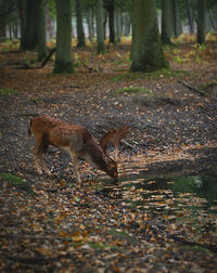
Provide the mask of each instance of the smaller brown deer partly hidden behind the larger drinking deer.
POLYGON ((129 126, 122 126, 117 129, 110 129, 101 139, 100 145, 105 153, 108 146, 108 143, 112 142, 115 148, 115 160, 118 158, 118 146, 120 141, 129 131, 129 126))

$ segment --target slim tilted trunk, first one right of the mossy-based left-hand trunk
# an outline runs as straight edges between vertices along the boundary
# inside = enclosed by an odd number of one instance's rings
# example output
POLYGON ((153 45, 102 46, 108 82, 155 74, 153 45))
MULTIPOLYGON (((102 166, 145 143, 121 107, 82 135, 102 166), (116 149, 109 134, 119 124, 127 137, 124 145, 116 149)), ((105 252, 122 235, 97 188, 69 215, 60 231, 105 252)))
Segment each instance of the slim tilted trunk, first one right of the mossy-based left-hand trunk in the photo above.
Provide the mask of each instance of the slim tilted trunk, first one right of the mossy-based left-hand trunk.
POLYGON ((77 47, 82 48, 85 47, 85 32, 82 27, 82 14, 81 14, 81 6, 80 0, 76 0, 76 27, 77 27, 77 47))

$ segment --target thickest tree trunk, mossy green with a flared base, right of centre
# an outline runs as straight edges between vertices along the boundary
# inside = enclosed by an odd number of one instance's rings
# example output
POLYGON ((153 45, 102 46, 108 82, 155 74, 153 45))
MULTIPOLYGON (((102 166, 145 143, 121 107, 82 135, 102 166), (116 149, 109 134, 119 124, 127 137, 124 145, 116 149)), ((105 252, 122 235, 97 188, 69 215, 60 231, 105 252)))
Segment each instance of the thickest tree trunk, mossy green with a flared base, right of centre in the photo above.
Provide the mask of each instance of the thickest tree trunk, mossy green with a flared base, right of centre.
POLYGON ((132 0, 131 72, 152 72, 168 67, 158 34, 156 3, 132 0))

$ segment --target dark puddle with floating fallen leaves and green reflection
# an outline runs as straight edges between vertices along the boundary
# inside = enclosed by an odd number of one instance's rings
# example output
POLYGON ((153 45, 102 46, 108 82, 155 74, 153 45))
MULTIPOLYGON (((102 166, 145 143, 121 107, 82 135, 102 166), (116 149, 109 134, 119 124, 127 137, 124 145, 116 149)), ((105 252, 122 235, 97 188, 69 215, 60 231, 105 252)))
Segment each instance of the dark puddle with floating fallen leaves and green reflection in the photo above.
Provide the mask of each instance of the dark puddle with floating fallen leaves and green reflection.
MULTIPOLYGON (((217 216, 217 177, 149 177, 138 174, 119 187, 123 199, 138 210, 145 210, 152 218, 199 221, 208 218, 206 231, 215 231, 217 216)), ((205 224, 205 223, 204 223, 205 224)))

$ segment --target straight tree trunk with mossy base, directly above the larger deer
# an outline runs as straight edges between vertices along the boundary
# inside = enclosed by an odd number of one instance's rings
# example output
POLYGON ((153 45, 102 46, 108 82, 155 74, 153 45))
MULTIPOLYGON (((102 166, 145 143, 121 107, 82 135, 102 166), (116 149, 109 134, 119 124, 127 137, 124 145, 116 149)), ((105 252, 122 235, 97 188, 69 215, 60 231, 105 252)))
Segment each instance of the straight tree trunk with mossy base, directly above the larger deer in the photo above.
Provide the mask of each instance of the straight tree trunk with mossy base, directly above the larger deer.
POLYGON ((56 2, 56 54, 53 73, 74 73, 72 61, 72 13, 71 0, 56 2))

